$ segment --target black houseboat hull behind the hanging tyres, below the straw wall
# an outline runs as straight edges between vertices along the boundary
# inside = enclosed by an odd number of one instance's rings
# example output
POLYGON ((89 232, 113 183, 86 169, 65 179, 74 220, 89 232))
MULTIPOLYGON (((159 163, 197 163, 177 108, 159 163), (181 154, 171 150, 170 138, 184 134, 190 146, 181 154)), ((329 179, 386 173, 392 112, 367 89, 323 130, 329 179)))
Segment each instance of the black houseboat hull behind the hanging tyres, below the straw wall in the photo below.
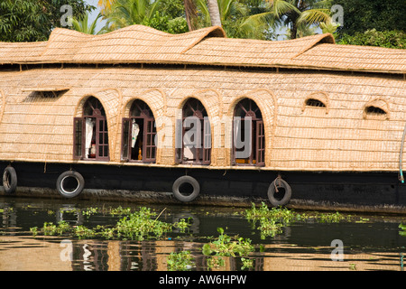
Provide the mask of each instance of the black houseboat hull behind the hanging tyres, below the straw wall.
MULTIPOLYGON (((2 169, 8 163, 2 163, 2 169)), ((97 163, 14 162, 18 186, 14 195, 59 198, 60 173, 73 169, 85 179, 81 199, 134 200, 180 203, 172 184, 180 176, 195 178, 200 186, 193 204, 251 206, 268 202, 267 191, 278 172, 256 170, 208 170, 97 163)), ((393 172, 282 172, 291 185, 289 206, 303 209, 405 212, 406 190, 393 172)), ((2 190, 4 193, 4 190, 2 190)))

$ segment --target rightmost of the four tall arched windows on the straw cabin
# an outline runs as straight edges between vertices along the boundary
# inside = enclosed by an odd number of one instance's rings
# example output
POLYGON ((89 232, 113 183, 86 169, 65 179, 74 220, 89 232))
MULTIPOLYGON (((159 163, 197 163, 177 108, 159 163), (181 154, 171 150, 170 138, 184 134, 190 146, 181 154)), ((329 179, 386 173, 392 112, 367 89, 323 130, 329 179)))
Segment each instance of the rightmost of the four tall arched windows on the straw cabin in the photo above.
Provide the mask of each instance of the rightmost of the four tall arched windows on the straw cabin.
POLYGON ((254 100, 245 98, 235 106, 233 160, 240 165, 265 164, 263 116, 254 100))

